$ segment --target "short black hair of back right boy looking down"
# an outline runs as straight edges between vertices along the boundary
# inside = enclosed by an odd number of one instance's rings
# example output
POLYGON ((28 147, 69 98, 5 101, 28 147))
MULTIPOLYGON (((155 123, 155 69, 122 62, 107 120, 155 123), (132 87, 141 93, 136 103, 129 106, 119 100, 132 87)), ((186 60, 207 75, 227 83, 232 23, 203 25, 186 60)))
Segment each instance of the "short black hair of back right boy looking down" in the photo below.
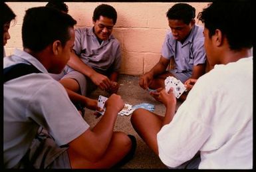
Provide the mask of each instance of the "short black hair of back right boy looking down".
POLYGON ((186 25, 195 18, 195 8, 187 3, 176 3, 166 13, 168 19, 182 20, 186 25))

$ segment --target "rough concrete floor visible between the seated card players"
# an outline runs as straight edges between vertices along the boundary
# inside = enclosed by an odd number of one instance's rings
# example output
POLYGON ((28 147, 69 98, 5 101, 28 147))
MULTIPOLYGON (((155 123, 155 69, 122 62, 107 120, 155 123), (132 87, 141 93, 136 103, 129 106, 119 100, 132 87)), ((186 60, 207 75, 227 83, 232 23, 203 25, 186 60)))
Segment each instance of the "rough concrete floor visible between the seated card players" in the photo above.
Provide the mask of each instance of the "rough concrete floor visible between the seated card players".
MULTIPOLYGON (((154 100, 154 98, 152 98, 152 96, 150 96, 146 90, 140 88, 138 85, 138 77, 121 75, 118 83, 120 84, 118 94, 122 96, 125 104, 130 104, 132 106, 145 102, 154 104, 154 113, 162 116, 164 115, 164 105, 154 100)), ((106 97, 110 96, 107 92, 97 89, 92 92, 89 97, 98 99, 98 96, 100 95, 106 97)), ((180 102, 178 102, 178 106, 180 106, 180 102)), ((86 120, 91 127, 95 126, 98 120, 100 120, 100 118, 95 119, 93 113, 94 111, 92 110, 85 110, 84 120, 86 120)), ((154 154, 154 152, 148 147, 148 145, 146 145, 146 143, 144 143, 136 131, 134 131, 132 124, 130 123, 130 116, 118 116, 114 130, 124 131, 125 133, 132 134, 137 140, 137 148, 134 159, 121 167, 122 169, 167 169, 166 165, 162 163, 159 157, 154 154)))

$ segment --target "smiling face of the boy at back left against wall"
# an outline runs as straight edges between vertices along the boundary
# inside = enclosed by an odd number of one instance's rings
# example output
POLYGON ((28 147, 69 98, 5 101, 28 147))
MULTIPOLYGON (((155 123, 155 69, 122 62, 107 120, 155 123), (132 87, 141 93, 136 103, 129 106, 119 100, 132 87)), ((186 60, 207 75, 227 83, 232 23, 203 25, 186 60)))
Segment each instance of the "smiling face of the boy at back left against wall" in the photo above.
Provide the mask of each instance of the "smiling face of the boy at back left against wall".
POLYGON ((107 40, 108 37, 111 35, 114 27, 113 20, 108 17, 103 17, 102 15, 100 18, 93 22, 94 24, 94 33, 98 39, 107 40))

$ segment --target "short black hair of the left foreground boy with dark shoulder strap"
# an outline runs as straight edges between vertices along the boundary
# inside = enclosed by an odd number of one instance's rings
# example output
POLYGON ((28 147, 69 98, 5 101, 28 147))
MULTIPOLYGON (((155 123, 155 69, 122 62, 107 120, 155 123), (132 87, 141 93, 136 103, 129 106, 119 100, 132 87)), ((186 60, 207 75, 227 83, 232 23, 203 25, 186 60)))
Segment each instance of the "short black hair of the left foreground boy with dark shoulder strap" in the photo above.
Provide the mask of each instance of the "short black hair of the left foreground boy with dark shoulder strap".
POLYGON ((62 45, 70 39, 70 27, 76 21, 68 14, 51 7, 33 7, 25 13, 22 26, 23 47, 40 52, 54 41, 62 45))

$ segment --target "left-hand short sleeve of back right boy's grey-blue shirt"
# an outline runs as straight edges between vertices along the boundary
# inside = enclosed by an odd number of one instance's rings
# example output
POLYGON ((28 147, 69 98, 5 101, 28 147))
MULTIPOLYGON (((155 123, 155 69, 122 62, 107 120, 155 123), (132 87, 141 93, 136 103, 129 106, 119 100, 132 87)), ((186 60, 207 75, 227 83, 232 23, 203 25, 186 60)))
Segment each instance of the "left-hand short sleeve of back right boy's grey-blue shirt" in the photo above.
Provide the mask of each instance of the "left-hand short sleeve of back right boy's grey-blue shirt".
POLYGON ((164 39, 164 43, 162 45, 162 56, 164 58, 167 58, 168 60, 170 60, 172 58, 172 56, 174 56, 174 50, 172 47, 172 33, 168 33, 166 35, 166 38, 164 39))

